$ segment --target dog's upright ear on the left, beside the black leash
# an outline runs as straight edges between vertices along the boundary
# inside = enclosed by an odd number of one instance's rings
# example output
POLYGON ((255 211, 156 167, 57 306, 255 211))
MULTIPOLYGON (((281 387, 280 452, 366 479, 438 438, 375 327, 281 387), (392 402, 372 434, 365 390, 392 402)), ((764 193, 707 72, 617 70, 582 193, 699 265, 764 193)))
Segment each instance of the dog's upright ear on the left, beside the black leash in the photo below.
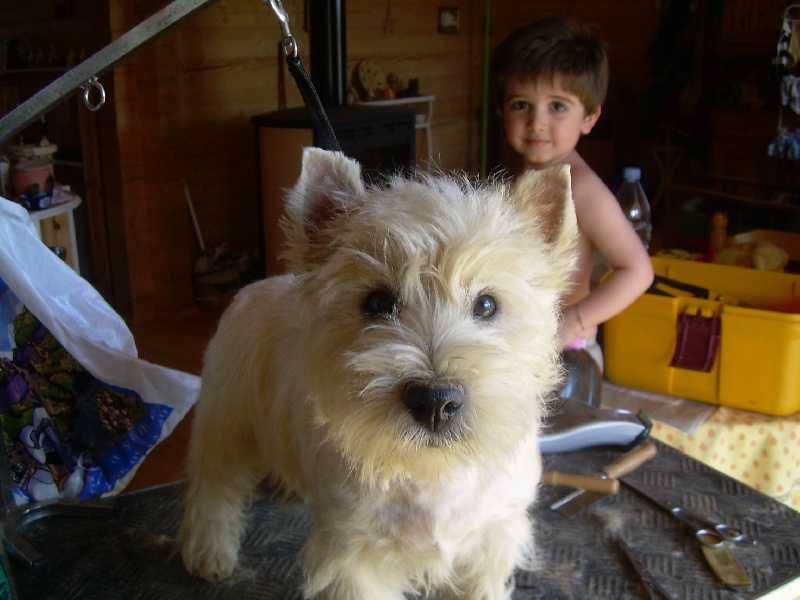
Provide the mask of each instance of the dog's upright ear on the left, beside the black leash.
POLYGON ((341 152, 303 150, 300 177, 286 198, 281 226, 286 237, 283 254, 294 272, 324 260, 330 225, 345 213, 354 196, 364 192, 361 165, 341 152))

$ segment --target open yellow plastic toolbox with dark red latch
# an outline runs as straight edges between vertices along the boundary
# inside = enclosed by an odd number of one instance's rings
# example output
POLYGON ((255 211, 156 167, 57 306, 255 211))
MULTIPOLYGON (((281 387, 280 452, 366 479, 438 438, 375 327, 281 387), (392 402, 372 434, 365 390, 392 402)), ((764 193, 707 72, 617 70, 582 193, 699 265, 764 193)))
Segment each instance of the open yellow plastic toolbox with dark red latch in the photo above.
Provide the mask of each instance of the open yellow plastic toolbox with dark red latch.
POLYGON ((653 258, 603 327, 614 383, 770 415, 800 410, 800 275, 653 258))

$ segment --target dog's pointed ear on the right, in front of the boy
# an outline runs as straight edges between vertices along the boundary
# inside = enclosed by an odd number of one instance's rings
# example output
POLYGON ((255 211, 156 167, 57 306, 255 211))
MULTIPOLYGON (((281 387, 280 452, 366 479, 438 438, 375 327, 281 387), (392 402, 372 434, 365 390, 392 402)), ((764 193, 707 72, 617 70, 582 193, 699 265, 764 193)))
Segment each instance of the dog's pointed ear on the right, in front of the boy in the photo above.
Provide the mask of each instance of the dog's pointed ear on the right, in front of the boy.
POLYGON ((514 183, 512 201, 534 218, 544 241, 554 249, 571 247, 578 233, 569 167, 530 169, 514 183))

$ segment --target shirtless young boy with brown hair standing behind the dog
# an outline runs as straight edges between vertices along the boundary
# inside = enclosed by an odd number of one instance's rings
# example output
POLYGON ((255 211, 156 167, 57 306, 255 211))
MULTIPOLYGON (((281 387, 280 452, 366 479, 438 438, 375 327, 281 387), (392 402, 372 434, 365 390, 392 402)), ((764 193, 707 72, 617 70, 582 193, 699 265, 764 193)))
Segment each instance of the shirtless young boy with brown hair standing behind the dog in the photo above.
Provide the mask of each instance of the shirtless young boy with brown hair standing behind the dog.
POLYGON ((653 280, 647 251, 616 197, 575 149, 597 123, 605 100, 604 44, 574 21, 544 19, 500 44, 492 72, 506 137, 525 168, 570 167, 579 258, 560 337, 565 349, 585 347, 602 369, 598 325, 624 310, 653 280), (590 289, 595 251, 613 274, 590 289))

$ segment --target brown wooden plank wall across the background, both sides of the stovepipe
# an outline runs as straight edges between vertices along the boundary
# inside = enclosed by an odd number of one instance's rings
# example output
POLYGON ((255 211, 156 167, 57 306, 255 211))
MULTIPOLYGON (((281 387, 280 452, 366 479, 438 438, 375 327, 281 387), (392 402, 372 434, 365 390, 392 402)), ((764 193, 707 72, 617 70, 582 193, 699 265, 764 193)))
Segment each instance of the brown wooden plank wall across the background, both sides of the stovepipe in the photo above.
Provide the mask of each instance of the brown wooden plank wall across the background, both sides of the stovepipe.
MULTIPOLYGON (((110 22, 95 25, 117 36, 165 4, 108 0, 110 22)), ((283 2, 308 64, 304 4, 283 2)), ((457 34, 437 32, 439 4, 428 0, 346 4, 348 68, 369 58, 384 73, 418 78, 421 92, 437 98, 433 136, 439 165, 476 172, 485 3, 445 3, 460 9, 457 34)), ((642 55, 658 25, 654 3, 495 0, 490 45, 514 27, 555 12, 597 23, 612 50, 615 79, 634 92, 625 102, 625 110, 634 112, 647 85, 642 55)), ((108 191, 109 261, 115 287, 127 296, 117 299, 126 318, 141 322, 194 307, 191 272, 198 245, 184 185, 207 244, 228 241, 252 252, 258 247, 250 118, 278 108, 279 32, 268 3, 219 0, 114 70, 113 119, 101 129, 98 145, 116 138, 117 162, 104 166, 114 175, 106 186, 113 182, 115 188, 108 191)), ((286 91, 287 105, 299 106, 288 75, 286 91)))

